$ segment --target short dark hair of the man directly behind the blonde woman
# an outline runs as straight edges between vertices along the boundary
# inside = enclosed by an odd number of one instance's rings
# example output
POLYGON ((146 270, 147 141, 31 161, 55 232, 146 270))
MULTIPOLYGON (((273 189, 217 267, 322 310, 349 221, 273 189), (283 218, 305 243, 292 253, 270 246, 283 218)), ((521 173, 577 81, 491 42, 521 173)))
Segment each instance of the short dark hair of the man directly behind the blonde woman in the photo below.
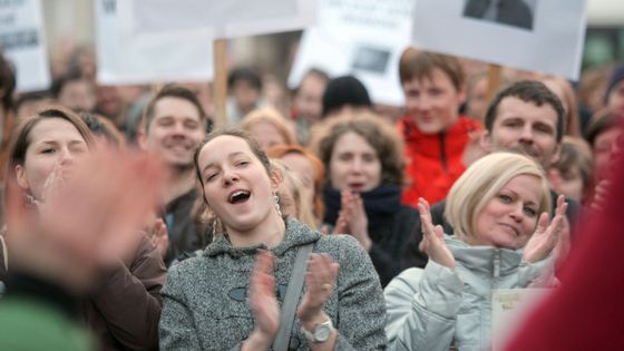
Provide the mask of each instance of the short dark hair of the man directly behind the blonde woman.
POLYGON ((486 113, 486 129, 491 133, 494 121, 498 117, 498 105, 506 97, 515 97, 525 103, 537 106, 547 104, 557 113, 557 143, 560 143, 565 130, 565 110, 559 98, 550 91, 543 82, 537 80, 520 80, 499 91, 488 106, 486 113))

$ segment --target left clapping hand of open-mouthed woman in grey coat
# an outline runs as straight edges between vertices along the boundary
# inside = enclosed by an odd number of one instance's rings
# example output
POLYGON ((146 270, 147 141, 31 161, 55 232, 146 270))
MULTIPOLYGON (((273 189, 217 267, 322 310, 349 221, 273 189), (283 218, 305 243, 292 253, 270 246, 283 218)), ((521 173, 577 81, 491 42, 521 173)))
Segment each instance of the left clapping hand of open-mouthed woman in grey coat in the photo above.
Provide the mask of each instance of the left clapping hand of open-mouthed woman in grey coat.
POLYGON ((280 328, 280 306, 275 298, 273 266, 275 257, 259 250, 255 267, 250 280, 250 306, 254 314, 255 329, 243 345, 243 350, 269 349, 280 328))

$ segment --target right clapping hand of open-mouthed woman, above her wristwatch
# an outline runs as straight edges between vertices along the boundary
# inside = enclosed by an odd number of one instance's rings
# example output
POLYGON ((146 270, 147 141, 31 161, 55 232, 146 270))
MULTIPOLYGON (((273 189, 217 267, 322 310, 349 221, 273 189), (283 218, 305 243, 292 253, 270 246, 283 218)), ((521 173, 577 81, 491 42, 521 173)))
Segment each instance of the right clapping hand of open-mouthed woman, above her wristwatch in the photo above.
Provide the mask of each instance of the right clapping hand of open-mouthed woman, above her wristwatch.
POLYGON ((305 273, 305 294, 296 310, 302 325, 312 330, 316 323, 324 322, 328 316, 323 305, 333 293, 339 264, 328 254, 310 254, 305 273))

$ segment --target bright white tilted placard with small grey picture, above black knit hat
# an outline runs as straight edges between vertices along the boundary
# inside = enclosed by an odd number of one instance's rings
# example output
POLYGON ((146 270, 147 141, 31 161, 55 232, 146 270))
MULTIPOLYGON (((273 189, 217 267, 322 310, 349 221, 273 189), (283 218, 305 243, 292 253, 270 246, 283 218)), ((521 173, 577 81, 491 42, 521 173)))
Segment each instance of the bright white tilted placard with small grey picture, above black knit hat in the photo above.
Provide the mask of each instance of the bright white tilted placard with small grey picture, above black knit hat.
POLYGON ((310 68, 358 77, 376 103, 403 105, 399 58, 410 42, 413 0, 320 0, 289 77, 294 88, 310 68))

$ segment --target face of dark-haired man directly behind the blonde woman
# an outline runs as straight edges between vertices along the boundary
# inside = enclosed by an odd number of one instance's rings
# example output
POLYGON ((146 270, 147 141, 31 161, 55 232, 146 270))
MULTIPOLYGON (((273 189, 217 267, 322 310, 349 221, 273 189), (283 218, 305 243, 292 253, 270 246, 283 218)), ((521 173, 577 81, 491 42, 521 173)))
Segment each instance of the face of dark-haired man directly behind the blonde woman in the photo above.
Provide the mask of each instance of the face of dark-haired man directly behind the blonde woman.
POLYGON ((548 104, 537 106, 508 96, 500 101, 491 133, 486 133, 488 150, 518 150, 548 169, 559 157, 557 113, 548 104))

